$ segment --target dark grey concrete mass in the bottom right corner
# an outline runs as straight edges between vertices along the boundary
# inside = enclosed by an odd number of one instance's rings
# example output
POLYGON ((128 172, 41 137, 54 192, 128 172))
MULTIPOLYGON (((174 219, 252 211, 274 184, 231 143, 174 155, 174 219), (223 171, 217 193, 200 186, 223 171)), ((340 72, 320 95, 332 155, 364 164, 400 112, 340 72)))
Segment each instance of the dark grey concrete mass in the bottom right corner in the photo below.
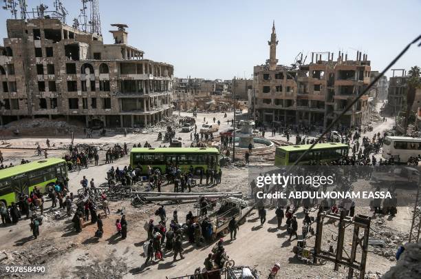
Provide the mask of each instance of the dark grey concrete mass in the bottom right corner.
POLYGON ((420 278, 421 243, 408 243, 395 267, 392 267, 382 279, 420 278))

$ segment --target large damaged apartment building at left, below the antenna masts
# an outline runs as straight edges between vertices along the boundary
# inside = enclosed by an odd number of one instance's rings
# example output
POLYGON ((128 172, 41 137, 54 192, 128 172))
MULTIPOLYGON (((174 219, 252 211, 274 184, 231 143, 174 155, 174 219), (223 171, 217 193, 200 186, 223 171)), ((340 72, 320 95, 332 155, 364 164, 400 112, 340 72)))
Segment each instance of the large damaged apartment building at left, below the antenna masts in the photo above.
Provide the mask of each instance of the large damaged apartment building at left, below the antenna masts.
POLYGON ((8 19, 0 47, 1 125, 66 118, 87 127, 142 127, 172 114, 173 65, 144 59, 112 24, 114 44, 59 19, 8 19))

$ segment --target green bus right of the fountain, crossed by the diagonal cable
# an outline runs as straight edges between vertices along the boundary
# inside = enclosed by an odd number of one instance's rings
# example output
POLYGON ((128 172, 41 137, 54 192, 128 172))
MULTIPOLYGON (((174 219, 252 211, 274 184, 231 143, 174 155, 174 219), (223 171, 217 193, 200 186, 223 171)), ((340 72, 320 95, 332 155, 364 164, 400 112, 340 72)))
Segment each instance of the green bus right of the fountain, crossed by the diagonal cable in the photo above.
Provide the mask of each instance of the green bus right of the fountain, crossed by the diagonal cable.
MULTIPOLYGON (((292 165, 312 145, 279 146, 275 152, 274 165, 292 165)), ((328 163, 348 155, 348 145, 343 143, 317 143, 312 150, 301 159, 299 165, 307 165, 309 161, 328 163)))

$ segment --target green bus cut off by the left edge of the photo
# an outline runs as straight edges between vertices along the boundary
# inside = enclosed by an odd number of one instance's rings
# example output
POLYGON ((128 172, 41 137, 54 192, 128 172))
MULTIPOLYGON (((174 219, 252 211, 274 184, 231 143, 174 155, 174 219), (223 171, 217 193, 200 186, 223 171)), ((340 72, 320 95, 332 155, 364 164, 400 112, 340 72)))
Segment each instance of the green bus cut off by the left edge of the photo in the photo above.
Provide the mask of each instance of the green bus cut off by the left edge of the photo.
POLYGON ((47 158, 23 165, 0 170, 0 201, 10 205, 16 202, 19 194, 27 194, 36 186, 46 192, 47 186, 56 180, 67 178, 66 161, 60 158, 47 158))

